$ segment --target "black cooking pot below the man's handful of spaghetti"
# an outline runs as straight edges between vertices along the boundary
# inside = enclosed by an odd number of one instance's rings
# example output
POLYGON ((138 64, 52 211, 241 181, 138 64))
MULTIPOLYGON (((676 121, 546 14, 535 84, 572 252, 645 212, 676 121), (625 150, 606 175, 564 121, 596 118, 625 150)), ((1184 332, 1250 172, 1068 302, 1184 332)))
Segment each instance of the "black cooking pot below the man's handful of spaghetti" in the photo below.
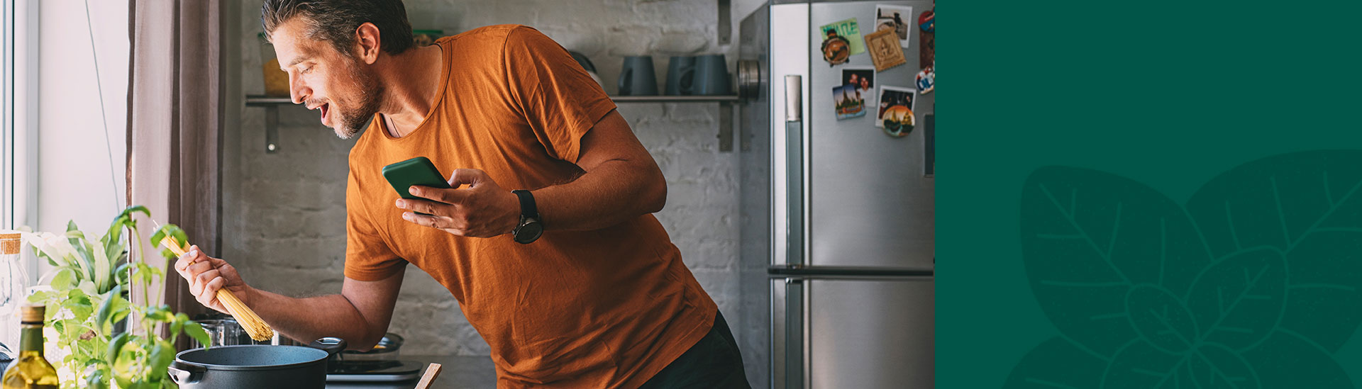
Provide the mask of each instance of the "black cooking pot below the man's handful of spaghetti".
POLYGON ((185 350, 170 363, 170 379, 185 389, 327 386, 327 359, 345 350, 339 337, 302 345, 222 345, 185 350))

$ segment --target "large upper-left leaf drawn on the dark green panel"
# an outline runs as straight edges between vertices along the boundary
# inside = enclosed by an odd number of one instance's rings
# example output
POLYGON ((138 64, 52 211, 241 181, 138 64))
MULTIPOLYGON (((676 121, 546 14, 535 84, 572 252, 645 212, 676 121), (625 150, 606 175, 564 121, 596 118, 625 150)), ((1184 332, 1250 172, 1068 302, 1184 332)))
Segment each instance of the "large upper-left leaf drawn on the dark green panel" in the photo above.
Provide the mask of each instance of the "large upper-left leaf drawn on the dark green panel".
POLYGON ((1209 254, 1173 200, 1124 177, 1042 167, 1022 189, 1022 254, 1031 291, 1080 348, 1110 356, 1137 337, 1135 284, 1181 295, 1209 254))

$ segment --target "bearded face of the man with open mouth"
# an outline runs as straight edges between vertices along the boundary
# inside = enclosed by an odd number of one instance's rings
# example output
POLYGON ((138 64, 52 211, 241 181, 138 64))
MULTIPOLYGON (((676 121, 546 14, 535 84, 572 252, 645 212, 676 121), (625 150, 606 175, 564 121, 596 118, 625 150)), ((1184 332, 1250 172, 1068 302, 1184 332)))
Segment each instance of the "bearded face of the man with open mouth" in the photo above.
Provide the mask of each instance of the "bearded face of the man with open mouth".
POLYGON ((366 64, 327 41, 308 38, 304 16, 279 24, 271 38, 279 68, 289 73, 294 103, 321 110, 321 125, 350 139, 379 113, 383 87, 366 64))

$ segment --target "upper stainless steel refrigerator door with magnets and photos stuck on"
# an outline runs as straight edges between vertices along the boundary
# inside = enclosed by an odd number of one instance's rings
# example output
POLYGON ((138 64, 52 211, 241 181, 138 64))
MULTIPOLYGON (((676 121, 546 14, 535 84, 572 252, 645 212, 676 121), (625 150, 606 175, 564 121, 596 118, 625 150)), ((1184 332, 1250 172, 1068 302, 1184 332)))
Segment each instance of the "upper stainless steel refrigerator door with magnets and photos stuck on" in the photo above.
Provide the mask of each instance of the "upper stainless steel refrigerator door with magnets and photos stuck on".
MULTIPOLYGON (((861 35, 874 31, 877 4, 932 10, 932 1, 812 3, 808 45, 813 64, 806 76, 805 116, 808 150, 808 233, 810 265, 933 268, 936 185, 923 177, 923 113, 934 94, 917 95, 918 129, 891 137, 876 128, 878 86, 911 88, 918 69, 917 23, 908 26, 907 64, 877 72, 874 91, 862 94, 866 114, 838 120, 832 88, 843 83, 843 69, 873 68, 868 53, 847 64, 829 65, 819 50, 820 26, 855 19, 861 35)), ((904 18, 917 20, 913 18, 904 18)), ((775 20, 775 19, 774 19, 775 20)), ((858 37, 859 38, 859 37, 858 37)), ((779 248, 779 246, 778 246, 779 248)))

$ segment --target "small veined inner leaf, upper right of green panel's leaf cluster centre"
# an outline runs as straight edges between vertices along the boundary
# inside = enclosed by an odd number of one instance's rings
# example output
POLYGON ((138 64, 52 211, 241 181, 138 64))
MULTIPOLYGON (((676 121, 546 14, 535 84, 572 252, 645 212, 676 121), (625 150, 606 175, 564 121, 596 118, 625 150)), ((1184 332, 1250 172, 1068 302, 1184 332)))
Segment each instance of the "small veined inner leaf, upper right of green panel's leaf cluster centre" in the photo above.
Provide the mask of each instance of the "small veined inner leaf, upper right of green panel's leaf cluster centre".
POLYGON ((1258 248, 1201 272, 1186 305, 1201 324, 1200 339, 1244 351, 1276 329, 1286 299, 1286 260, 1275 248, 1258 248))

